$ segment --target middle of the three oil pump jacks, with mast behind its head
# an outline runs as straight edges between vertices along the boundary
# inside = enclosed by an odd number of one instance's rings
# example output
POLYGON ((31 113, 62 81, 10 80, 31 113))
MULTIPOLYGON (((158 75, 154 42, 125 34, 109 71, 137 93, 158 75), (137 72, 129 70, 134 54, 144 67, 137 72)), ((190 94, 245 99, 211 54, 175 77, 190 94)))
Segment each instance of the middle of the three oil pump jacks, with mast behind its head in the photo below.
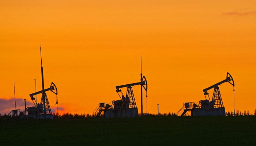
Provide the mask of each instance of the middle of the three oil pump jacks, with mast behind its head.
MULTIPOLYGON (((140 58, 141 59, 141 58, 140 58)), ((139 116, 138 108, 136 105, 135 97, 133 94, 132 86, 140 85, 141 86, 141 101, 142 101, 142 88, 145 89, 147 93, 147 80, 145 76, 142 76, 142 68, 140 72, 140 82, 135 82, 131 84, 125 84, 116 86, 116 92, 120 97, 120 100, 113 100, 112 105, 110 103, 99 103, 99 105, 94 110, 95 116, 100 116, 103 111, 105 118, 114 118, 114 117, 136 117, 139 116), (126 95, 124 96, 121 88, 126 88, 126 95), (120 95, 121 92, 121 95, 120 95)), ((147 94, 146 94, 147 97, 147 94)), ((143 113, 143 110, 142 110, 143 113)))

